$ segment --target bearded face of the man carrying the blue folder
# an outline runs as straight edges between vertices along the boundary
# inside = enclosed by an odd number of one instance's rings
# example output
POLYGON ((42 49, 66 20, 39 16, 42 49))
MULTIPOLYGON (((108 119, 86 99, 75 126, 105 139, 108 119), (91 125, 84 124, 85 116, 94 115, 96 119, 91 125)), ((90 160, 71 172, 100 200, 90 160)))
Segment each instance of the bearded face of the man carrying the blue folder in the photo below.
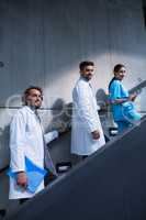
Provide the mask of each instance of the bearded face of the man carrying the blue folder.
POLYGON ((26 103, 30 107, 34 107, 38 109, 42 106, 42 94, 37 89, 31 89, 27 97, 26 97, 26 103))

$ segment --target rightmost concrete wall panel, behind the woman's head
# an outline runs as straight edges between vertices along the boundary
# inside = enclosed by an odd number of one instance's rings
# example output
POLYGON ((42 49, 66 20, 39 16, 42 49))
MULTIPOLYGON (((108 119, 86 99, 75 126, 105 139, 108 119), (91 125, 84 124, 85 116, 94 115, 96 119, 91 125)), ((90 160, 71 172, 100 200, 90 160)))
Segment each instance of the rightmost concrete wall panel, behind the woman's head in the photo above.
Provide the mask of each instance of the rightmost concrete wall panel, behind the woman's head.
POLYGON ((135 86, 145 79, 146 30, 142 1, 108 1, 111 65, 124 63, 128 75, 125 85, 135 86))

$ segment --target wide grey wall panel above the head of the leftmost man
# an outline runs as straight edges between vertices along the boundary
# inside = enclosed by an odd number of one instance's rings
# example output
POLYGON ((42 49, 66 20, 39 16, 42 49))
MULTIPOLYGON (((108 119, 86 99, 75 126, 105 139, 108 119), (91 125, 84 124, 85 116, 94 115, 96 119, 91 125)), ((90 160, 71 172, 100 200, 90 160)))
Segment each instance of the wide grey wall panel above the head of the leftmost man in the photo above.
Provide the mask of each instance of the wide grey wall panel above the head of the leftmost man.
POLYGON ((29 85, 44 86, 44 58, 41 1, 3 1, 1 10, 2 81, 7 78, 0 99, 3 106, 7 94, 21 95, 29 85))

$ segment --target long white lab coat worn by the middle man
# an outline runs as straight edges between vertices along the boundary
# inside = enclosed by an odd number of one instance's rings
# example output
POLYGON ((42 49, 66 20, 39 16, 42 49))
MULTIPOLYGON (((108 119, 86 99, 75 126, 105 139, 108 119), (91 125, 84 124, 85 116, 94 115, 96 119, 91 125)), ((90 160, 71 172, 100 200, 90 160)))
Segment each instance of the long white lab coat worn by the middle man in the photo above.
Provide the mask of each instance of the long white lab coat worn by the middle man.
POLYGON ((74 88, 72 100, 71 153, 90 155, 104 145, 105 140, 98 114, 96 97, 89 81, 82 77, 74 88), (92 139, 91 132, 96 130, 100 132, 99 140, 92 139))

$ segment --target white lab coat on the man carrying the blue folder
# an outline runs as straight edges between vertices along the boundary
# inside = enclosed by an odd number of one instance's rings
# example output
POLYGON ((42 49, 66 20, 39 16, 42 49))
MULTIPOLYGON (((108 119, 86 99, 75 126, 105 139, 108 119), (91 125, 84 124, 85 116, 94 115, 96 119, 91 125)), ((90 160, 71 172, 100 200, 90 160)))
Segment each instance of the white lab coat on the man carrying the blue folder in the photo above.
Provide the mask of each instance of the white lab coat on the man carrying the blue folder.
MULTIPOLYGON (((58 132, 49 132, 43 136, 42 127, 35 112, 30 107, 23 107, 13 117, 10 125, 10 167, 12 172, 25 170, 24 157, 27 156, 34 164, 44 167, 44 142, 57 138, 58 132)), ((36 193, 44 188, 44 183, 38 186, 36 193)), ((35 194, 36 194, 35 193, 35 194)), ((31 194, 20 188, 10 177, 10 199, 30 198, 31 194)))

